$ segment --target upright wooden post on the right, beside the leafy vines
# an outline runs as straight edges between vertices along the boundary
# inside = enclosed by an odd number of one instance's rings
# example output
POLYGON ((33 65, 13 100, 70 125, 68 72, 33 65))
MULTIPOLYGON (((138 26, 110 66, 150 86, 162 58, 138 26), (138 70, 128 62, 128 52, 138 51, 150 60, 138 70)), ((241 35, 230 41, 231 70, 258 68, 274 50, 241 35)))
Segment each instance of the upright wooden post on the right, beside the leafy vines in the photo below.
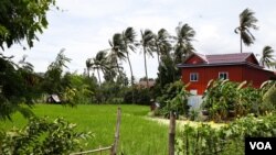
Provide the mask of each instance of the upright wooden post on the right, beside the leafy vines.
POLYGON ((170 126, 169 126, 169 155, 174 155, 174 137, 176 137, 176 115, 170 112, 170 126))

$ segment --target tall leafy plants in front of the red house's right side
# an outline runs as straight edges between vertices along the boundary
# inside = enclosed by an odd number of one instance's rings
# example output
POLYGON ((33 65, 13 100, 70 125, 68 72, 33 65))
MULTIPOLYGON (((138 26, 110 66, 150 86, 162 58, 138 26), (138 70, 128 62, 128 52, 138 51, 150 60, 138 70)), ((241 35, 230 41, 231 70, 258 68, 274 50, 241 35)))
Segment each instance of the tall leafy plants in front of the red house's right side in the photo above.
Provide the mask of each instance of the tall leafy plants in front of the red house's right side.
POLYGON ((211 80, 203 95, 203 110, 208 111, 209 119, 221 121, 248 113, 263 113, 262 91, 229 80, 211 80))

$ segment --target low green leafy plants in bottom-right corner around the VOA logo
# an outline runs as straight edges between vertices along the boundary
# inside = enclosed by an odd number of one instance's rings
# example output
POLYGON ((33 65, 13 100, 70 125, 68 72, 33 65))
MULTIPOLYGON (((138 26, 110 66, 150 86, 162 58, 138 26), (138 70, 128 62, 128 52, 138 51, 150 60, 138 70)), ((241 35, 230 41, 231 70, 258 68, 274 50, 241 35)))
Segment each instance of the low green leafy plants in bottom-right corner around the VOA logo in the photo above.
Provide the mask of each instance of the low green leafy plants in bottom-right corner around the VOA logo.
POLYGON ((215 129, 210 124, 184 125, 178 139, 178 154, 243 155, 245 137, 275 137, 276 114, 247 115, 215 129))

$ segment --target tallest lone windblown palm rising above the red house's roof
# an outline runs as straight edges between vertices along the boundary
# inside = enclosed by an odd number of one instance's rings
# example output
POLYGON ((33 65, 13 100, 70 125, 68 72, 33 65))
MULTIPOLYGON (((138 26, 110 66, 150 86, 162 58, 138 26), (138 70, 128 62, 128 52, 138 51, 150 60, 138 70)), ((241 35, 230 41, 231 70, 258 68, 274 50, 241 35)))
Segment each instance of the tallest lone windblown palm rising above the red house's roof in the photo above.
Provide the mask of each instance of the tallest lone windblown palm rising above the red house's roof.
POLYGON ((240 14, 240 25, 235 29, 235 33, 240 33, 240 44, 241 44, 241 53, 243 53, 243 43, 247 46, 254 43, 255 37, 251 33, 250 29, 257 30, 258 27, 255 25, 257 19, 254 16, 255 12, 250 9, 245 9, 240 14), (243 43, 242 43, 243 42, 243 43))

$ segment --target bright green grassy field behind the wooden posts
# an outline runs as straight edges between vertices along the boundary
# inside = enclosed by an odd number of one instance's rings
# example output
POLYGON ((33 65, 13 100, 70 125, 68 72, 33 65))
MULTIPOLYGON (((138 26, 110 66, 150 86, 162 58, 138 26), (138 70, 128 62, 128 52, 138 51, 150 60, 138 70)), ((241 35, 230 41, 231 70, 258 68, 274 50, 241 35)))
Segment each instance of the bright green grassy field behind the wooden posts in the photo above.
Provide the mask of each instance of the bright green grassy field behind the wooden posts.
MULTIPOLYGON (((88 141, 87 150, 109 146, 114 142, 118 106, 93 104, 77 108, 57 104, 38 104, 33 112, 39 117, 51 119, 64 118, 77 124, 79 131, 91 131, 94 137, 88 141)), ((164 155, 168 154, 168 125, 147 119, 149 107, 120 106, 121 123, 119 152, 124 155, 164 155)), ((22 128, 26 120, 19 113, 12 122, 0 121, 2 129, 22 128)), ((108 154, 108 153, 107 153, 108 154)))

